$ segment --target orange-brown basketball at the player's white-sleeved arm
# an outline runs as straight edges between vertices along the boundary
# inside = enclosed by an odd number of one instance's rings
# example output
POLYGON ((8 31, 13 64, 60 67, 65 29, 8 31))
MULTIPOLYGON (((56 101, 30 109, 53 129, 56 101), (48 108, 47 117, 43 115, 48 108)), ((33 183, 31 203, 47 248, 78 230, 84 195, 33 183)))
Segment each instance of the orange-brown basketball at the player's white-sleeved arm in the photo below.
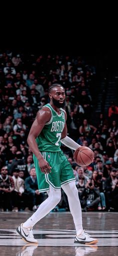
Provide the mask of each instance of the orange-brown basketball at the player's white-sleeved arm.
POLYGON ((79 166, 83 167, 93 162, 94 153, 90 148, 81 146, 74 151, 73 158, 79 166))

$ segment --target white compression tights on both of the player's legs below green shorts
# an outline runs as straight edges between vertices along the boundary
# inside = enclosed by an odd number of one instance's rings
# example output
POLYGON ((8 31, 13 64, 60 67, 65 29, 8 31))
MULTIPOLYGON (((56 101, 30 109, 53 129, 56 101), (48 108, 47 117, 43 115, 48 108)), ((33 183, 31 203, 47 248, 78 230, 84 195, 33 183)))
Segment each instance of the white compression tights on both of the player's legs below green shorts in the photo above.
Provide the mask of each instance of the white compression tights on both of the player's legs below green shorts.
MULTIPOLYGON (((82 231, 82 217, 81 207, 78 198, 78 191, 75 186, 75 181, 66 183, 61 186, 68 198, 70 212, 73 217, 73 221, 76 228, 76 233, 82 231)), ((24 223, 23 227, 32 227, 34 224, 43 218, 50 210, 52 210, 56 204, 60 201, 61 192, 59 189, 55 190, 51 186, 49 187, 48 198, 43 201, 38 209, 29 217, 24 223)))

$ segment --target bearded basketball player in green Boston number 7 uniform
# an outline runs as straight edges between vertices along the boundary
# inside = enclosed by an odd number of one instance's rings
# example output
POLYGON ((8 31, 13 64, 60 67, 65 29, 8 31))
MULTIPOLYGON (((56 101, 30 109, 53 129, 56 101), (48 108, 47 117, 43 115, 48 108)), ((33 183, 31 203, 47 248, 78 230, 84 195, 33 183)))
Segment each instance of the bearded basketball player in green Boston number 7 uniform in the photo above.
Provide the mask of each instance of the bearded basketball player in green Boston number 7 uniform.
POLYGON ((39 192, 46 191, 48 198, 16 230, 26 242, 37 243, 33 237, 32 227, 60 201, 62 187, 67 195, 76 229, 74 242, 96 243, 96 239, 83 231, 81 207, 73 170, 60 149, 60 142, 73 150, 80 146, 66 136, 66 113, 62 109, 65 104, 64 88, 59 84, 51 85, 49 98, 50 103, 37 112, 27 138, 27 143, 33 152, 39 192))

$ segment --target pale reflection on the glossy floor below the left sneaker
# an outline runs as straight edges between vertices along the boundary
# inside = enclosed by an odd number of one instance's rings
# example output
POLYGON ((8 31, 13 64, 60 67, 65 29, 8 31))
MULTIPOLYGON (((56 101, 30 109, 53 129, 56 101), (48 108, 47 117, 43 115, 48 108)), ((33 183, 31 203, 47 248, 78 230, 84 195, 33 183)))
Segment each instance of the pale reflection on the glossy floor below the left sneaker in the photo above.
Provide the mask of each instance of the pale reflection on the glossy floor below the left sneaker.
POLYGON ((16 256, 32 256, 34 249, 37 248, 37 245, 26 244, 24 245, 19 252, 16 253, 16 256))

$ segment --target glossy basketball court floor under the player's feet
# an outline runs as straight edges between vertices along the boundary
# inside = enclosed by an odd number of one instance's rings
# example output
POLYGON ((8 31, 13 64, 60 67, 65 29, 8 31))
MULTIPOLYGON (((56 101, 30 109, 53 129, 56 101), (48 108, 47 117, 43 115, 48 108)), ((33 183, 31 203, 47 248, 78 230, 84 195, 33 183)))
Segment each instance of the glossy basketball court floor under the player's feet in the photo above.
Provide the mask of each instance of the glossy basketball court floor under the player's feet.
POLYGON ((33 229, 38 245, 26 244, 16 232, 32 212, 0 212, 0 256, 114 256, 118 255, 117 212, 84 212, 83 228, 97 244, 74 243, 75 229, 69 212, 50 212, 33 229))

